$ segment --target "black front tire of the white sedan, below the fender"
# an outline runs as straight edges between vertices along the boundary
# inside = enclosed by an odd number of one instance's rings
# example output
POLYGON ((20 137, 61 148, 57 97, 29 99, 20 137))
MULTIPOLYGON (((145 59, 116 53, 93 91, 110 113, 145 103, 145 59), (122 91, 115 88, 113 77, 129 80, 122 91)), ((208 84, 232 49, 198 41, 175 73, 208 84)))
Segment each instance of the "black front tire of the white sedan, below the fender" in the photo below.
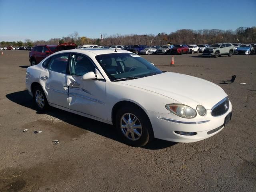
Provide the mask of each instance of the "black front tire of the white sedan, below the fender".
POLYGON ((122 108, 120 108, 116 113, 115 126, 116 126, 116 130, 117 130, 118 134, 121 136, 122 140, 130 146, 134 146, 134 147, 145 146, 146 144, 148 144, 148 142, 150 142, 151 140, 154 139, 152 125, 151 125, 151 122, 150 122, 148 116, 141 108, 139 108, 137 106, 125 105, 122 108), (124 117, 125 119, 127 117, 126 120, 128 120, 128 114, 130 114, 131 119, 133 119, 134 116, 136 116, 136 118, 138 118, 138 120, 135 120, 134 124, 132 122, 128 122, 128 121, 127 121, 128 123, 126 124, 124 122, 124 120, 122 119, 122 117, 124 117), (136 129, 136 132, 141 134, 140 136, 135 134, 134 131, 128 131, 128 129, 134 130, 133 126, 137 125, 137 124, 141 125, 140 126, 141 128, 136 129), (121 125, 123 125, 124 128, 121 128, 121 125), (131 126, 131 127, 126 128, 125 126, 127 126, 127 127, 131 126), (128 134, 127 134, 127 132, 128 132, 128 134), (127 134, 127 136, 125 134, 127 134), (132 135, 134 135, 134 139, 136 139, 136 140, 132 140, 132 135))

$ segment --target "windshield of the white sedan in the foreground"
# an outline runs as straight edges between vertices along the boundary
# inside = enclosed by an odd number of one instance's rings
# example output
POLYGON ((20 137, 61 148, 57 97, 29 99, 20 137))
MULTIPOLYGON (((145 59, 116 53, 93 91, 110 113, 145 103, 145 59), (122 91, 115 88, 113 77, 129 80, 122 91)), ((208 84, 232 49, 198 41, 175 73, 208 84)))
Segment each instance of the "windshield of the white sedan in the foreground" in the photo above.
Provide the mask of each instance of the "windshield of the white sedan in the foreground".
MULTIPOLYGON (((96 60, 102 66, 111 81, 122 78, 141 78, 163 73, 144 58, 130 53, 110 53, 97 55, 96 60)), ((126 79, 124 79, 126 80, 126 79)))

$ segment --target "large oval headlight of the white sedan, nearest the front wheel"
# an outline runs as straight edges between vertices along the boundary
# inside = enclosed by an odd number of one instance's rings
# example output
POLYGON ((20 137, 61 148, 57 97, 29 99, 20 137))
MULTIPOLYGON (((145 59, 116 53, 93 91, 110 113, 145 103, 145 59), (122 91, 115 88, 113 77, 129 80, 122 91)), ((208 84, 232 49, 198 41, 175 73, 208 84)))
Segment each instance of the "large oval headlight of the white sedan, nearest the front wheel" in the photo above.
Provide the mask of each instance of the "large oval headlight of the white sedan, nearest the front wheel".
POLYGON ((165 106, 170 112, 175 115, 178 115, 182 118, 194 118, 196 116, 196 111, 190 106, 183 104, 168 104, 165 106))

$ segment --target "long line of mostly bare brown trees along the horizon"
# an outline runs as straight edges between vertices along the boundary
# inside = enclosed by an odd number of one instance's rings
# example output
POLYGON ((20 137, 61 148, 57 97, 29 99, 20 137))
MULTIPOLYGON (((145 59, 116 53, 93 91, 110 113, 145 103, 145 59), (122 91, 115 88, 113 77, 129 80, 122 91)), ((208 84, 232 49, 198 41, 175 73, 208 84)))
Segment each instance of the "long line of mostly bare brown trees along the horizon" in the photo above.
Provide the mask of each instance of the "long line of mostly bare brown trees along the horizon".
MULTIPOLYGON (((100 34, 99 34, 100 37, 100 34)), ((253 27, 239 27, 236 30, 220 30, 220 29, 203 29, 191 30, 181 29, 170 34, 161 32, 154 34, 114 34, 102 35, 103 46, 110 45, 164 45, 164 44, 213 44, 218 42, 231 43, 256 43, 256 26, 253 27)), ((32 41, 26 39, 24 42, 0 42, 1 46, 33 46, 38 44, 57 45, 64 42, 74 42, 78 46, 84 44, 98 44, 101 45, 101 38, 87 38, 86 36, 79 36, 78 32, 74 32, 62 38, 52 38, 48 41, 36 40, 32 41)))

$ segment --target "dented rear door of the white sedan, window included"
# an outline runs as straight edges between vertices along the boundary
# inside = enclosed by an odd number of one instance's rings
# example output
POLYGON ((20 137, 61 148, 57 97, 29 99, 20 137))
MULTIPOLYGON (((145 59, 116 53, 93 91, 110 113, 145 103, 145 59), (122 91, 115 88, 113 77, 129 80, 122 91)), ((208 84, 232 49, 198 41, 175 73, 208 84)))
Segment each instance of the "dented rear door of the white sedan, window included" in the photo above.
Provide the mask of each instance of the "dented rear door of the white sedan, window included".
POLYGON ((48 102, 68 108, 68 86, 66 71, 69 53, 57 54, 46 60, 40 74, 40 84, 47 95, 48 102))

